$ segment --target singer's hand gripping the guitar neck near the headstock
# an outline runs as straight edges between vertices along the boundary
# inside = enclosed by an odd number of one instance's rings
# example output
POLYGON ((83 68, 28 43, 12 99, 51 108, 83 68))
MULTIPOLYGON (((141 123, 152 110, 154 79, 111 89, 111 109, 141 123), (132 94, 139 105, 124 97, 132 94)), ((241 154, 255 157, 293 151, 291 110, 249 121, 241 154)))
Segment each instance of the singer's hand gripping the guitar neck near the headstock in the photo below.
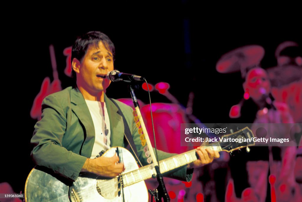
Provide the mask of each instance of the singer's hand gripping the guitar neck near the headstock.
POLYGON ((210 148, 204 149, 202 146, 197 147, 196 153, 198 155, 198 159, 189 163, 187 168, 198 168, 219 158, 219 153, 217 151, 213 151, 210 148))

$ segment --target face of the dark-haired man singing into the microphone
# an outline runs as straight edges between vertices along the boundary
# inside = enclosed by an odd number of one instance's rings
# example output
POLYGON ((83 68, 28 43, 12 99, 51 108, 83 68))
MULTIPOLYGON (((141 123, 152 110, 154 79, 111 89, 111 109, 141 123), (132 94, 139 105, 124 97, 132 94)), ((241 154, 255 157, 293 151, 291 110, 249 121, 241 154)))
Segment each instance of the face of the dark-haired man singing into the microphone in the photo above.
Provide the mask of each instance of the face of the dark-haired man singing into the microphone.
POLYGON ((108 88, 111 81, 100 76, 113 69, 113 56, 110 50, 107 50, 101 41, 98 46, 90 45, 80 63, 77 85, 91 94, 103 91, 108 88))

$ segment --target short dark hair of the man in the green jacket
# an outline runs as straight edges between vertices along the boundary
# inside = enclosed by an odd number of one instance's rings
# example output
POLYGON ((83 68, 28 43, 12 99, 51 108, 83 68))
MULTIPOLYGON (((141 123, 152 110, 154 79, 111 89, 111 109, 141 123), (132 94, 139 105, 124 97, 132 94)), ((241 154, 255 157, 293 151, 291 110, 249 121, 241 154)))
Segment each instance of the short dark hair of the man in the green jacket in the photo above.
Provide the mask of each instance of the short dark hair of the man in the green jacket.
MULTIPOLYGON (((85 56, 88 47, 90 45, 98 47, 98 43, 100 41, 104 44, 106 49, 110 50, 114 59, 115 47, 109 37, 100 31, 90 31, 79 37, 73 44, 71 52, 71 63, 73 58, 76 58, 80 62, 82 62, 82 59, 85 56)), ((71 77, 76 79, 76 72, 73 69, 71 71, 71 77)))

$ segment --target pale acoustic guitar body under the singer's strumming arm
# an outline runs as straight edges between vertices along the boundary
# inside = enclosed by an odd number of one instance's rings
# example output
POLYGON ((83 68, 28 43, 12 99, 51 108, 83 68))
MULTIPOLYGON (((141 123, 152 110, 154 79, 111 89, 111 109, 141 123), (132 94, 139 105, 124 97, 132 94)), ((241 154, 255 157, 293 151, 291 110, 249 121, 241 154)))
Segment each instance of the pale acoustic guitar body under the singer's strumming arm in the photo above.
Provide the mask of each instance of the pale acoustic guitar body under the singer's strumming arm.
MULTIPOLYGON (((125 165, 123 173, 137 170, 138 165, 134 157, 125 148, 112 147, 103 156, 112 157, 117 149, 120 162, 125 165)), ((87 174, 78 177, 72 185, 68 186, 53 175, 33 168, 26 180, 25 200, 27 202, 148 201, 148 192, 144 181, 122 189, 121 184, 120 178, 117 177, 104 179, 96 175, 87 174)))

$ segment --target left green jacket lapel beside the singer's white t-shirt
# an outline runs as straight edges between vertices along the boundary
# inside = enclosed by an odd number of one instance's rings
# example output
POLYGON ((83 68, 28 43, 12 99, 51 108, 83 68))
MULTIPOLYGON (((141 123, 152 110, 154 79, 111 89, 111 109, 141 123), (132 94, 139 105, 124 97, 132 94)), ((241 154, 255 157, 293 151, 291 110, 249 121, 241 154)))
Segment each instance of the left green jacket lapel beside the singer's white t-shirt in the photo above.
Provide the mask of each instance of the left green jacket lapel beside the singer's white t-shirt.
POLYGON ((82 156, 91 156, 95 142, 95 128, 87 104, 78 88, 70 91, 71 109, 82 123, 84 130, 84 143, 81 149, 82 156))

